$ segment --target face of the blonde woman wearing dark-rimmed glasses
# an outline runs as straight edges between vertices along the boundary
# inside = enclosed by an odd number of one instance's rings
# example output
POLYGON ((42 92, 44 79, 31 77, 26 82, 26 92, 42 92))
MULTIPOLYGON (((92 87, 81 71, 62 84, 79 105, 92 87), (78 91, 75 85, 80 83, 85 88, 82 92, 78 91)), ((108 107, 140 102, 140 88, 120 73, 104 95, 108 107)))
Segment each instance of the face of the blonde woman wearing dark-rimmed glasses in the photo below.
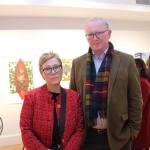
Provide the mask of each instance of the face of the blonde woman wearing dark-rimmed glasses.
POLYGON ((56 58, 51 58, 47 60, 42 65, 42 70, 43 69, 44 71, 41 71, 41 75, 48 86, 60 85, 63 70, 60 66, 59 61, 56 58))

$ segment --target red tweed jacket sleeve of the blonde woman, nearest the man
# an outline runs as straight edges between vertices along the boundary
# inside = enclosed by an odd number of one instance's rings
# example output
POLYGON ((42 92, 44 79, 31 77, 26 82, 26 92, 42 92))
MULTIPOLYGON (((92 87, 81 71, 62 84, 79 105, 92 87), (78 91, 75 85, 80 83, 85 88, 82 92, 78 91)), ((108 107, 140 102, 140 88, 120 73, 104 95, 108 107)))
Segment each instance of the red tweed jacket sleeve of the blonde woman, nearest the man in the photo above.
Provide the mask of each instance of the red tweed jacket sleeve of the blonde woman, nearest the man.
POLYGON ((84 137, 83 112, 81 107, 81 99, 78 94, 76 105, 76 130, 67 142, 64 150, 79 150, 84 137))

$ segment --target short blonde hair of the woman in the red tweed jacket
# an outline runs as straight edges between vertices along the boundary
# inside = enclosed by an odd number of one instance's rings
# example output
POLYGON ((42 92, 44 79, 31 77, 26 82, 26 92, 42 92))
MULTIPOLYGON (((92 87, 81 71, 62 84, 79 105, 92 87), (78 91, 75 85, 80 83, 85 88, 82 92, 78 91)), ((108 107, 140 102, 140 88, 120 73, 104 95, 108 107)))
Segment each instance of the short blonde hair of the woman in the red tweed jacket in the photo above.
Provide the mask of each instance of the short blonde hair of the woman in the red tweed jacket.
POLYGON ((62 61, 59 57, 59 55, 55 52, 48 52, 48 53, 43 53, 40 58, 39 58, 39 71, 41 72, 42 70, 42 65, 49 59, 52 59, 52 58, 56 58, 60 65, 62 66, 62 61))

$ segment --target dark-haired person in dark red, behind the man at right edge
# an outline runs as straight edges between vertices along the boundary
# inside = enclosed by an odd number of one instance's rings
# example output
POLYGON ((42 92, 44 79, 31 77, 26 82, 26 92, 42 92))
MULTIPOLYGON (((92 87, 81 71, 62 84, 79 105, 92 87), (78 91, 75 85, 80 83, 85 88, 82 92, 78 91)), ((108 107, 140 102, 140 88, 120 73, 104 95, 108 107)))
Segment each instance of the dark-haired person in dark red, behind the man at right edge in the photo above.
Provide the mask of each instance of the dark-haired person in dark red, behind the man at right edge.
POLYGON ((143 97, 143 113, 140 132, 132 143, 132 149, 149 150, 150 147, 150 85, 147 80, 148 73, 142 59, 135 59, 136 67, 140 75, 141 91, 143 97))

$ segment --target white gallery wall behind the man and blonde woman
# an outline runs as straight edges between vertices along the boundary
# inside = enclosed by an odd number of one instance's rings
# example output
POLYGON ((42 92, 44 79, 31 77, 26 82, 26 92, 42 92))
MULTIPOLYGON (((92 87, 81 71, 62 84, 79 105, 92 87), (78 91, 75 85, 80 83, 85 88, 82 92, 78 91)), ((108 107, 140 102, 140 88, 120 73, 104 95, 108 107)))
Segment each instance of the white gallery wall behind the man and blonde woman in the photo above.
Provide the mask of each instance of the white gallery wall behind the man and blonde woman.
MULTIPOLYGON (((4 129, 0 147, 21 143, 19 115, 22 106, 8 104, 8 62, 19 58, 33 61, 34 87, 44 83, 38 72, 38 58, 43 52, 54 50, 61 58, 75 58, 86 53, 85 19, 71 18, 0 18, 0 117, 4 129)), ((149 52, 150 23, 108 20, 115 48, 130 54, 149 52)), ((61 83, 68 87, 68 82, 61 83)), ((9 99, 8 99, 9 98, 9 99)))

